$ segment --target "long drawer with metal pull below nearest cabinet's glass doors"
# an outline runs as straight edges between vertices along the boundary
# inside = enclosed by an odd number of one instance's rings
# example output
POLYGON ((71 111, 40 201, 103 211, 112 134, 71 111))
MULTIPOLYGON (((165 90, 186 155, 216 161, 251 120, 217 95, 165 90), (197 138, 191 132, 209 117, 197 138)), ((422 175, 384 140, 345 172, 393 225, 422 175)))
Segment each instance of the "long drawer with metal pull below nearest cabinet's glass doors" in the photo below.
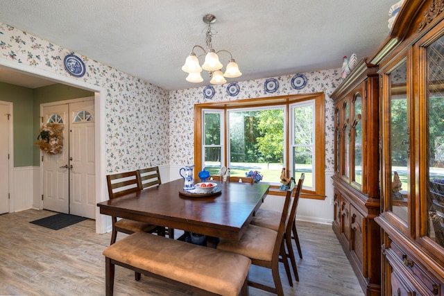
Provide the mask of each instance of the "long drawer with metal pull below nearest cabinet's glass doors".
POLYGON ((429 295, 440 294, 440 286, 438 282, 434 281, 434 279, 432 279, 432 277, 430 277, 429 274, 418 265, 418 263, 413 261, 413 259, 411 259, 411 257, 404 252, 399 245, 392 241, 390 250, 393 251, 392 253, 395 256, 395 259, 399 262, 399 265, 404 266, 404 271, 409 273, 408 276, 415 281, 418 281, 420 286, 424 287, 429 295))

